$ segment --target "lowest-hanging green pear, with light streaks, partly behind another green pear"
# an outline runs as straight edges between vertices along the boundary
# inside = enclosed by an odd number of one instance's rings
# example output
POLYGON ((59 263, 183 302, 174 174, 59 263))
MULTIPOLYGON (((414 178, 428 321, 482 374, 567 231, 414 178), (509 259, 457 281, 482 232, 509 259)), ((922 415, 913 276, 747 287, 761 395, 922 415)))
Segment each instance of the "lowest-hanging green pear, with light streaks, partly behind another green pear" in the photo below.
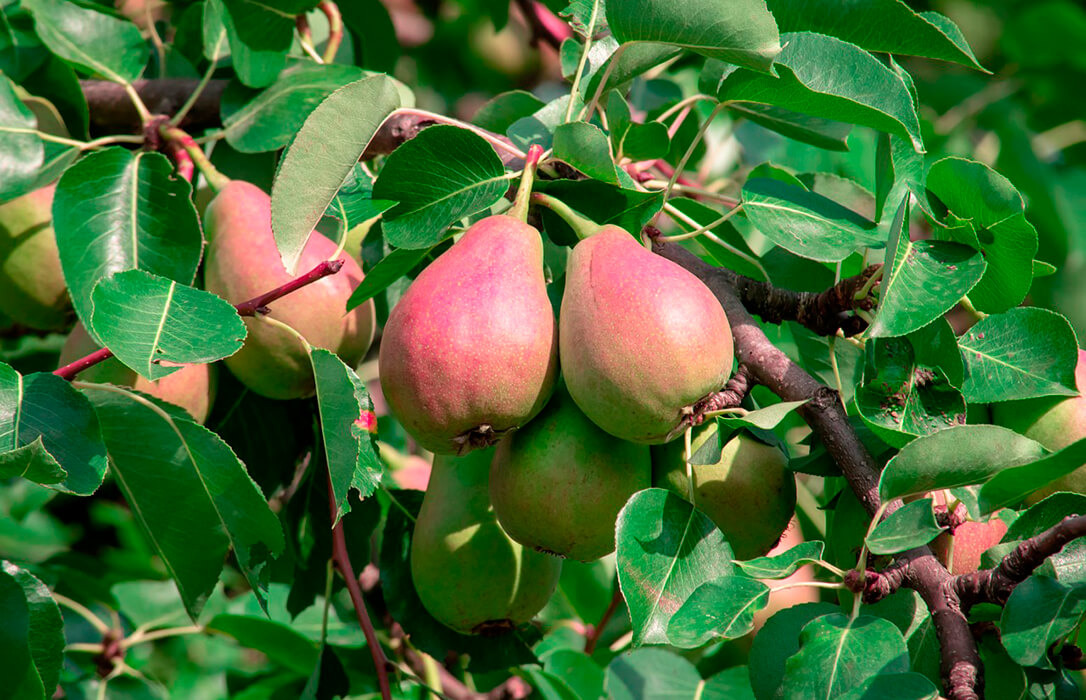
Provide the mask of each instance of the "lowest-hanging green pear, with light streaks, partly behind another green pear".
POLYGON ((493 456, 439 455, 412 536, 419 599, 464 634, 501 634, 530 621, 561 573, 560 560, 518 545, 497 523, 487 493, 493 456))

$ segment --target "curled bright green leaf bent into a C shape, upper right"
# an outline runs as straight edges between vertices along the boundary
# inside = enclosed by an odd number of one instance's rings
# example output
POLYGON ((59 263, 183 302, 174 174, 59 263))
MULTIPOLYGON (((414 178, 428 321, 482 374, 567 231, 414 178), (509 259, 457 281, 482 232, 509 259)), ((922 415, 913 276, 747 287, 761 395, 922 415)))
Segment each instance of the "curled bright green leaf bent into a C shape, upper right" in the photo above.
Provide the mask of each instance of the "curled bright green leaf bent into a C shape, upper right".
POLYGON ((1021 304, 1033 280, 1037 231, 1019 191, 987 165, 959 157, 932 165, 925 184, 932 208, 952 215, 935 236, 984 253, 988 267, 970 294, 976 308, 998 314, 1021 304))

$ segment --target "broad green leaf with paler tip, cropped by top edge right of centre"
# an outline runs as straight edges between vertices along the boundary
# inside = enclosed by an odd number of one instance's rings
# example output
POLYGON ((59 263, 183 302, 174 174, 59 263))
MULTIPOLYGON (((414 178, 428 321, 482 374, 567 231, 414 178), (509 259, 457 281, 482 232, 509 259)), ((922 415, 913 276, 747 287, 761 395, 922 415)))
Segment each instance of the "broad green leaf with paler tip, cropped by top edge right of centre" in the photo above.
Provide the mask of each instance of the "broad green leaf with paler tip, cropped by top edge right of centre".
POLYGON ((770 71, 781 53, 762 0, 608 0, 607 23, 620 43, 666 43, 756 71, 770 71))

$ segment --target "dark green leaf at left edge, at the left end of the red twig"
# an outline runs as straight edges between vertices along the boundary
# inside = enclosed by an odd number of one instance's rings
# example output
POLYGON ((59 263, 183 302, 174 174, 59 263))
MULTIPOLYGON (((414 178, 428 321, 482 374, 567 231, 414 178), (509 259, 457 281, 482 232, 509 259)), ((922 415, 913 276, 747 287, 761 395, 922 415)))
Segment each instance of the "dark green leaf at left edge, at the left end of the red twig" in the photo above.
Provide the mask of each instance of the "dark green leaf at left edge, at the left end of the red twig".
POLYGON ((89 496, 105 478, 105 446, 87 397, 60 377, 21 377, 0 362, 0 471, 89 496))

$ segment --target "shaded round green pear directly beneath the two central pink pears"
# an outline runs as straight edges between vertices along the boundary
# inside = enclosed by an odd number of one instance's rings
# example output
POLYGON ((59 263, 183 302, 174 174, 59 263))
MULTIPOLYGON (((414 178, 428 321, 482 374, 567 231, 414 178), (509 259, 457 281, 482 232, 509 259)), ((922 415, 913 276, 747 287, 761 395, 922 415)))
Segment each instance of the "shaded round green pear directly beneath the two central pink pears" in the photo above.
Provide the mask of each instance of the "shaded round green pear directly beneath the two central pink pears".
POLYGON ((543 411, 497 444, 490 499, 520 544, 593 561, 615 551, 618 511, 652 479, 648 447, 599 430, 559 382, 543 411))

